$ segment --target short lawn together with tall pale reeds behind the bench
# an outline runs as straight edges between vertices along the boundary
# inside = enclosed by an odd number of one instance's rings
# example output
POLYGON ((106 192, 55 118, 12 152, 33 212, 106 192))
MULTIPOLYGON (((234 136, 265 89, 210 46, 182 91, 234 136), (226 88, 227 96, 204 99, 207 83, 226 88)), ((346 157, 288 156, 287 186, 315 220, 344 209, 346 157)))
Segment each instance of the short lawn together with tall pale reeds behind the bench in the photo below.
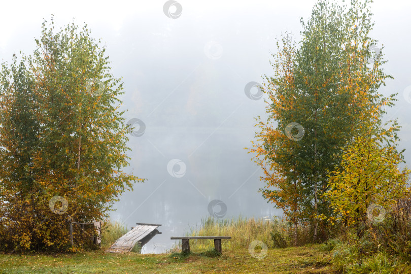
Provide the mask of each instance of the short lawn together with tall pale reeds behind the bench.
MULTIPOLYGON (((272 224, 264 220, 203 219, 186 234, 230 235, 223 240, 223 254, 214 252, 214 242, 190 241, 191 253, 182 254, 179 244, 166 254, 105 253, 104 250, 128 228, 107 223, 102 230, 101 250, 76 254, 0 254, 0 273, 330 273, 329 252, 318 245, 273 249, 272 224), (264 243, 249 251, 253 241, 264 243), (254 255, 254 256, 253 256, 254 255)), ((179 241, 181 242, 181 241, 179 241)))

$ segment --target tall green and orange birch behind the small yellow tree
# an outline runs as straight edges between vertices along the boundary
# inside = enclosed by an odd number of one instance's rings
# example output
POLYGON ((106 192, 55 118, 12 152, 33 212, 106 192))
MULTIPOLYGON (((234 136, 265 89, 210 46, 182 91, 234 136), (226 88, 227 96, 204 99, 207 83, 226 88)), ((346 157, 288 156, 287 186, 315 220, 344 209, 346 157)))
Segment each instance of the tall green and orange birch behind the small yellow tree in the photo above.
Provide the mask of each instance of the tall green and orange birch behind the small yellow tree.
MULTIPOLYGON (((265 166, 262 180, 267 185, 261 191, 277 206, 286 200, 280 208, 299 208, 299 216, 312 227, 313 241, 318 240, 319 224, 327 237, 328 223, 318 216, 333 214, 322 198, 327 170, 340 162, 341 148, 353 142, 353 135, 382 130, 381 108, 393 101, 393 95, 378 93, 391 78, 381 68, 382 55, 369 62, 370 46, 376 43, 368 37, 373 25, 369 3, 353 0, 350 7, 340 7, 319 1, 311 19, 301 19, 298 47, 286 46, 274 55, 275 76, 266 77, 263 86, 269 96, 268 120, 276 124, 260 121, 259 143, 251 150, 265 166), (297 193, 284 191, 292 182, 299 186, 297 193), (298 207, 292 195, 301 197, 298 207)), ((283 44, 290 45, 288 37, 283 44)))

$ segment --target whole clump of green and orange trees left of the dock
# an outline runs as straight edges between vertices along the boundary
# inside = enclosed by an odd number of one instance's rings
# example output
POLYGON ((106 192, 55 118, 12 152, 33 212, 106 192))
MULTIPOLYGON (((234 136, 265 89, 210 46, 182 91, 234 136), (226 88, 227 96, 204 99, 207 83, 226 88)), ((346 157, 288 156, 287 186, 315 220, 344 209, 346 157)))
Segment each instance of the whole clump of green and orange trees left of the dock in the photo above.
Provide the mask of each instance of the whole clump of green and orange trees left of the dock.
MULTIPOLYGON (((0 73, 0 248, 68 250, 70 222, 108 217, 141 179, 128 165, 122 83, 85 25, 44 21, 31 56, 0 73)), ((81 249, 95 233, 74 226, 81 249)))

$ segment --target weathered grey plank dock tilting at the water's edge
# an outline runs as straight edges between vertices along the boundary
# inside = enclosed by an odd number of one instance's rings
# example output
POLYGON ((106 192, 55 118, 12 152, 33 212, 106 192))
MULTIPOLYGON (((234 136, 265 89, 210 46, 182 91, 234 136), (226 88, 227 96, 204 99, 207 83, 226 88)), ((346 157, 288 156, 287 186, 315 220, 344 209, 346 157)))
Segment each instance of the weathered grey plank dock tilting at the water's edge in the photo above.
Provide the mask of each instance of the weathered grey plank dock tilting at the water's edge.
POLYGON ((161 232, 157 230, 159 226, 159 224, 137 223, 136 227, 132 227, 130 231, 118 238, 106 252, 130 252, 136 244, 143 247, 155 235, 161 234, 161 232))

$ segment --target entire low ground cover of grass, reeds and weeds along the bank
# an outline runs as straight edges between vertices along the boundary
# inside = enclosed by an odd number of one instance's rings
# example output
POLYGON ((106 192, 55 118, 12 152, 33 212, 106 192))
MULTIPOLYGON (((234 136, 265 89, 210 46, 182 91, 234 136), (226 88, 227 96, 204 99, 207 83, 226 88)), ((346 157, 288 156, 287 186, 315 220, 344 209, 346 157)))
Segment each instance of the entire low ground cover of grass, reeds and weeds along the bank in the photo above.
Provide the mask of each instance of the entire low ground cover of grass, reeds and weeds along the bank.
MULTIPOLYGON (((395 216, 391 215, 389 226, 395 216)), ((397 223, 398 224, 398 223, 397 223)), ((341 234, 322 244, 302 243, 292 246, 291 224, 282 220, 244 218, 203 218, 199 227, 185 235, 229 235, 223 240, 223 254, 214 252, 210 240, 190 241, 191 252, 181 253, 181 244, 163 254, 140 254, 139 249, 125 254, 105 250, 129 229, 119 222, 106 222, 102 227, 101 249, 77 253, 22 252, 0 254, 0 273, 393 273, 410 272, 408 262, 399 254, 390 254, 380 243, 358 237, 355 231, 341 234), (259 241, 259 245, 251 243, 259 241), (263 244, 261 244, 263 243, 263 244), (264 248, 266 249, 264 250, 264 248)), ((381 227, 374 228, 375 233, 381 227)), ((304 228, 300 228, 304 231, 304 228)), ((309 238, 307 235, 306 238, 309 238)), ((304 239, 304 237, 301 237, 304 239)), ((180 241, 179 241, 180 242, 180 241)), ((393 242, 391 242, 393 243, 393 242)), ((396 243, 399 247, 399 243, 396 243)))

